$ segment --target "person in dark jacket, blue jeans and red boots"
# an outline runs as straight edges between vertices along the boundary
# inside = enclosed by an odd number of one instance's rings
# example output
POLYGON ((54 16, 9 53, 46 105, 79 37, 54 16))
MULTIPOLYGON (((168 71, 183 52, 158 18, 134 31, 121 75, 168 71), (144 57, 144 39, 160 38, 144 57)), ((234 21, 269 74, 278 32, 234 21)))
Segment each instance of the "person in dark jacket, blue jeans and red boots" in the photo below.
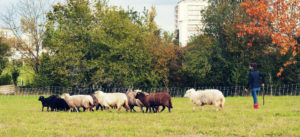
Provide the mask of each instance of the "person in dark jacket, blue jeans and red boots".
POLYGON ((257 70, 256 63, 251 63, 250 72, 248 76, 248 84, 245 88, 247 92, 248 88, 251 88, 253 101, 254 101, 254 109, 258 109, 258 101, 257 101, 257 93, 260 91, 261 86, 264 87, 265 76, 257 70), (259 77, 262 77, 262 84, 260 84, 259 77))

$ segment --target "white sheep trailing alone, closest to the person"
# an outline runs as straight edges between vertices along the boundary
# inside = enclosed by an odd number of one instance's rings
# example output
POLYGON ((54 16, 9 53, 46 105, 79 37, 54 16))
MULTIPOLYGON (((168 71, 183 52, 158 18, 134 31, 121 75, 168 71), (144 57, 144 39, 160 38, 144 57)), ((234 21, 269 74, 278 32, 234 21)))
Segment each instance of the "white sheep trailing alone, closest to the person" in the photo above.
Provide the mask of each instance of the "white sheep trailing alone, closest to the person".
POLYGON ((186 91, 184 97, 189 98, 193 102, 193 112, 195 111, 196 106, 201 106, 201 109, 203 110, 202 106, 204 105, 215 105, 216 111, 218 111, 218 109, 223 109, 225 103, 223 93, 217 89, 205 89, 198 91, 195 89, 189 89, 186 91))

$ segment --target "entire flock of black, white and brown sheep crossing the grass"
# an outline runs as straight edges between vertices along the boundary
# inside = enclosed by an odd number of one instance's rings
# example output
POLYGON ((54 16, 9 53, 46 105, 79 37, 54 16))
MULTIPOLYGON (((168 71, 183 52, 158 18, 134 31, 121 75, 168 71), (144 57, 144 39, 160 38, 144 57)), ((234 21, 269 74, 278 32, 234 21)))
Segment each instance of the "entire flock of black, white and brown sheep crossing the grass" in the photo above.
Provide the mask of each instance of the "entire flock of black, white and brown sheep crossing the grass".
MULTIPOLYGON (((195 90, 189 89, 186 91, 184 97, 189 98, 194 104, 193 111, 196 106, 204 105, 215 105, 216 110, 223 109, 225 98, 221 91, 217 89, 206 89, 206 90, 195 90)), ((96 110, 107 110, 111 111, 110 108, 117 108, 118 111, 122 107, 126 111, 136 111, 134 106, 140 107, 141 111, 144 112, 143 107, 146 107, 146 112, 153 111, 163 112, 167 107, 171 112, 172 101, 169 93, 146 93, 141 90, 129 89, 126 93, 104 93, 102 91, 96 91, 91 95, 72 95, 64 93, 62 96, 51 95, 47 98, 40 96, 39 101, 42 102, 42 111, 44 107, 49 108, 51 111, 76 111, 80 112, 80 108, 83 111, 94 111, 96 110), (159 107, 162 109, 159 110, 159 107)))

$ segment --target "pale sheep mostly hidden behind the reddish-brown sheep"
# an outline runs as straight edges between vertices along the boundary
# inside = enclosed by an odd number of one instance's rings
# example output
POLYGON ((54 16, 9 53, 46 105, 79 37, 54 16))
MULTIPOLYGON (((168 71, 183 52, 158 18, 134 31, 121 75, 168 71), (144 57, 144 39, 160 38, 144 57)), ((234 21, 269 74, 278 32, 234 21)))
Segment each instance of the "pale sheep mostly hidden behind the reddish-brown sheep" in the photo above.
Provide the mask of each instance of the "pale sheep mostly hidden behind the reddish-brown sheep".
MULTIPOLYGON (((136 93, 137 92, 142 92, 141 90, 134 90, 132 91, 132 89, 129 89, 127 92, 126 92, 126 96, 128 98, 128 105, 130 107, 130 112, 132 112, 132 110, 134 112, 136 112, 134 110, 134 106, 139 106, 141 108, 141 111, 144 112, 143 110, 143 107, 144 107, 144 104, 139 100, 139 99, 136 99, 135 96, 136 96, 136 93)), ((146 92, 143 92, 145 95, 149 95, 148 93, 146 92)))

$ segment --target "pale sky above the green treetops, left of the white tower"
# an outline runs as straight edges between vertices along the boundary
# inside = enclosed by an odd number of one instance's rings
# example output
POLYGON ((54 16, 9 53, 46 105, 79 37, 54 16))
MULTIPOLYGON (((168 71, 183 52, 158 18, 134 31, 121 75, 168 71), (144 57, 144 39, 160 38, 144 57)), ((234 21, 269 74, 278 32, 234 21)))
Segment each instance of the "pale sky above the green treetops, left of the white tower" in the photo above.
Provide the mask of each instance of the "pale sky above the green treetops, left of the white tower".
MULTIPOLYGON (((0 0, 0 16, 6 12, 7 7, 11 4, 16 4, 19 0, 0 0)), ((175 30, 175 6, 179 0, 109 0, 109 5, 121 6, 127 9, 128 6, 138 12, 142 12, 144 7, 146 9, 155 6, 157 16, 155 21, 159 28, 170 33, 175 30)), ((4 23, 0 21, 0 27, 5 27, 4 23)))

